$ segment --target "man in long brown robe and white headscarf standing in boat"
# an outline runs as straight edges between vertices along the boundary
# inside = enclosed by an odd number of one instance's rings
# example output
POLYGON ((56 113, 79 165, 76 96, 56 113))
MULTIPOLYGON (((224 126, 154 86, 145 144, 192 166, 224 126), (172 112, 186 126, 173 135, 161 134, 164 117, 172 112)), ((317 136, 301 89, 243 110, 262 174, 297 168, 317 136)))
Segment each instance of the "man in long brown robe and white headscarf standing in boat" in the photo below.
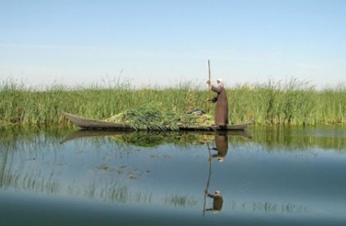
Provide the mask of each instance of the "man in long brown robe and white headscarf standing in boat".
POLYGON ((215 124, 218 126, 226 126, 228 124, 228 100, 227 93, 223 86, 222 79, 217 79, 217 85, 211 84, 210 80, 207 81, 209 89, 217 93, 217 97, 208 99, 208 101, 216 102, 215 110, 215 124))

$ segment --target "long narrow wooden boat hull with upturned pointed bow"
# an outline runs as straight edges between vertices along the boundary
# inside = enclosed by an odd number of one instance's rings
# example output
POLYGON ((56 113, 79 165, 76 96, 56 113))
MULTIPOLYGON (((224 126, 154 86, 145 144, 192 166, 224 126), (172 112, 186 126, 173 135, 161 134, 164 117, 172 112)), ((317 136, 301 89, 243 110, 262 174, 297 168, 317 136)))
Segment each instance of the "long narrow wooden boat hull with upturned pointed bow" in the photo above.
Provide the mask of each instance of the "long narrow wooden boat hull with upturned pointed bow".
MULTIPOLYGON (((73 114, 66 112, 60 112, 73 124, 80 127, 80 129, 85 130, 117 130, 117 131, 136 131, 135 127, 130 124, 115 123, 112 121, 98 120, 98 119, 88 119, 84 117, 78 117, 73 114)), ((232 124, 226 126, 177 126, 179 131, 244 131, 252 123, 246 124, 232 124)), ((163 127, 162 129, 148 129, 148 130, 166 130, 170 131, 172 128, 169 126, 163 127)))

